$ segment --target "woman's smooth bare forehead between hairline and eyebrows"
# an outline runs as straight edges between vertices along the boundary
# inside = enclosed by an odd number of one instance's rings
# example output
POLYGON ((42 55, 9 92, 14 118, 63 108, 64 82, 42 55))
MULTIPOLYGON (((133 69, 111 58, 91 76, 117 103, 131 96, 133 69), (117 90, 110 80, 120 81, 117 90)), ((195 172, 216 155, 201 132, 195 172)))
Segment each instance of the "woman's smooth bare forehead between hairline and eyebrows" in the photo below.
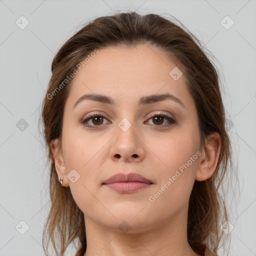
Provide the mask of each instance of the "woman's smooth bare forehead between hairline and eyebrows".
POLYGON ((183 98, 182 101, 191 100, 184 75, 177 80, 170 76, 173 68, 177 68, 177 65, 155 46, 140 44, 132 48, 98 49, 98 53, 90 57, 81 70, 77 70, 71 81, 67 104, 73 104, 85 93, 129 100, 170 92, 183 98))

